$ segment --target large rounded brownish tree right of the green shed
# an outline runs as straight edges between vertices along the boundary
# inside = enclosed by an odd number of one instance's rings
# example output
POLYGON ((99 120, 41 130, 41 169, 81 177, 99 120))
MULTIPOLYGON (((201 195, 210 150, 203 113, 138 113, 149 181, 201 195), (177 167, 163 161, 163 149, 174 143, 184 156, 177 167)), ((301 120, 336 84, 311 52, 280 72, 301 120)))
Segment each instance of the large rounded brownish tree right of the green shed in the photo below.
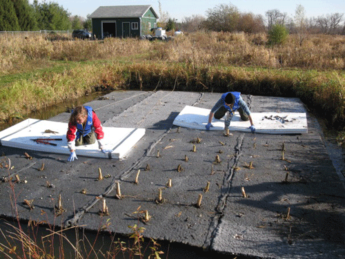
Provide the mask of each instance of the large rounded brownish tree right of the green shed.
POLYGON ((233 32, 239 23, 239 10, 231 4, 220 4, 206 11, 206 28, 208 30, 233 32))

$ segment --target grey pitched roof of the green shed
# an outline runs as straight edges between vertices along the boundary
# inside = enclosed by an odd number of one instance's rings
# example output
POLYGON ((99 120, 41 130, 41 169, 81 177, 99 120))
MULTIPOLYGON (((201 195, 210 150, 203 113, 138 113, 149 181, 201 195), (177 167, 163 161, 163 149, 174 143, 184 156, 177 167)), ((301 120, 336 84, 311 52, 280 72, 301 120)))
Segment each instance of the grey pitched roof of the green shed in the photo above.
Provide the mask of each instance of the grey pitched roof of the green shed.
POLYGON ((126 18, 143 17, 151 8, 151 11, 158 18, 155 10, 150 5, 143 6, 99 6, 88 18, 126 18))

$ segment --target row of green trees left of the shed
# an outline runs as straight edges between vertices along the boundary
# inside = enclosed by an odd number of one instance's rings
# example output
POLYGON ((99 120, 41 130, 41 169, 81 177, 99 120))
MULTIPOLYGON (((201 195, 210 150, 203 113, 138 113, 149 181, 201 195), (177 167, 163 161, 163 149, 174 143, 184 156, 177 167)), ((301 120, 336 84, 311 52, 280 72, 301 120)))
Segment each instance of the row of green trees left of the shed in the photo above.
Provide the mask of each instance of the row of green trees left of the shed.
POLYGON ((0 31, 70 30, 91 28, 90 19, 71 16, 55 2, 0 0, 0 31))

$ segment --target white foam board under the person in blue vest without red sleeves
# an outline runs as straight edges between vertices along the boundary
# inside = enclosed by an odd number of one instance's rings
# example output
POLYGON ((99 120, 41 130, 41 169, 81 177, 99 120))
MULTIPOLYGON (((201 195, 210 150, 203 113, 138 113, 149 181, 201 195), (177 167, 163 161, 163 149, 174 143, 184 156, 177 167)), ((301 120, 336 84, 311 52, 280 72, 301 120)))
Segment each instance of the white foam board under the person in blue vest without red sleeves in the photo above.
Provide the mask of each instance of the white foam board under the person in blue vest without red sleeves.
MULTIPOLYGON (((185 106, 172 124, 186 128, 206 130, 210 110, 195 106, 185 106)), ((251 113, 257 133, 302 134, 308 133, 306 113, 251 113)), ((213 118, 213 131, 224 130, 224 119, 213 118)), ((238 112, 230 122, 230 131, 250 132, 250 122, 243 122, 238 112)))

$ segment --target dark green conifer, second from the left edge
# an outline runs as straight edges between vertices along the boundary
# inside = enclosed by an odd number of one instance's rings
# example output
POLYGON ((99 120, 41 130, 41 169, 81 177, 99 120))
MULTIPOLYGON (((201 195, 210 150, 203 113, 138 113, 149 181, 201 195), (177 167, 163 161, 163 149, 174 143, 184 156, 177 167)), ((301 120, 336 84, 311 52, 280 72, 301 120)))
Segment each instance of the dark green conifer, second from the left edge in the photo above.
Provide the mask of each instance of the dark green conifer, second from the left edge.
POLYGON ((37 30, 34 9, 28 0, 11 0, 17 15, 20 30, 37 30))

